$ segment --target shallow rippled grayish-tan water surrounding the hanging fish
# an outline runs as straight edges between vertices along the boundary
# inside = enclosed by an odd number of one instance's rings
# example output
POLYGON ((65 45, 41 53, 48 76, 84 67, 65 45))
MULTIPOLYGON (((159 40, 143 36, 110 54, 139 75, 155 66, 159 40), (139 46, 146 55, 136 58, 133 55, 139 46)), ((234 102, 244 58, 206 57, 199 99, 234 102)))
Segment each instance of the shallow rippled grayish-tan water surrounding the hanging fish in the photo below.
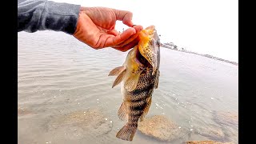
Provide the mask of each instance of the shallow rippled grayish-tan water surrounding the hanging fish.
MULTIPOLYGON (((94 50, 61 32, 18 33, 18 143, 129 143, 115 137, 120 86, 110 70, 126 53, 94 50)), ((238 143, 238 66, 161 49, 160 79, 149 114, 166 115, 184 131, 171 143, 238 143), (226 120, 226 119, 224 119, 226 120), (229 120, 227 120, 229 121, 229 120)), ((137 130, 130 143, 166 143, 137 130)))

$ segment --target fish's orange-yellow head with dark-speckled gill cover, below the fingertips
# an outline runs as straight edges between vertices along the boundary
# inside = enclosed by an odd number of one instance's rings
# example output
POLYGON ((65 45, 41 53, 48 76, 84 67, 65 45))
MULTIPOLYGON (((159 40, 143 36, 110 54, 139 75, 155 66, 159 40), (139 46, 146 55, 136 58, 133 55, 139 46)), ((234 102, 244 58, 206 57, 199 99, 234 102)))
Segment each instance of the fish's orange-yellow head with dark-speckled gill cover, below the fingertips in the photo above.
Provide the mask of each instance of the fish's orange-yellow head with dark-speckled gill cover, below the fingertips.
POLYGON ((160 38, 155 26, 148 26, 138 34, 138 50, 147 62, 153 67, 153 73, 159 68, 160 62, 160 38))

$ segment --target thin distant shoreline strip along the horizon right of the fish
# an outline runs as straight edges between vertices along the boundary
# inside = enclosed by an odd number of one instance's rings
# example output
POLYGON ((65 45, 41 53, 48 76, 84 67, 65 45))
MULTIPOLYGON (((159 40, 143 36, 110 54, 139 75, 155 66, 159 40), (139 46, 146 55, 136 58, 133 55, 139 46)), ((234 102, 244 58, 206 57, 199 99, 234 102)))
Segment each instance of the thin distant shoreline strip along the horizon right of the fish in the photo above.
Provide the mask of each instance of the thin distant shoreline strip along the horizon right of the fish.
POLYGON ((238 62, 232 62, 232 61, 229 61, 229 60, 226 60, 226 59, 223 59, 223 58, 217 58, 217 57, 214 57, 210 54, 198 54, 198 53, 193 52, 193 51, 185 50, 184 48, 178 49, 178 46, 174 45, 174 43, 172 43, 172 42, 161 43, 161 46, 164 47, 164 48, 170 49, 170 50, 177 50, 177 51, 181 51, 181 52, 185 52, 185 53, 197 54, 197 55, 201 55, 203 57, 212 58, 214 60, 218 60, 218 61, 222 61, 222 62, 229 62, 229 63, 231 63, 235 66, 238 66, 238 62))

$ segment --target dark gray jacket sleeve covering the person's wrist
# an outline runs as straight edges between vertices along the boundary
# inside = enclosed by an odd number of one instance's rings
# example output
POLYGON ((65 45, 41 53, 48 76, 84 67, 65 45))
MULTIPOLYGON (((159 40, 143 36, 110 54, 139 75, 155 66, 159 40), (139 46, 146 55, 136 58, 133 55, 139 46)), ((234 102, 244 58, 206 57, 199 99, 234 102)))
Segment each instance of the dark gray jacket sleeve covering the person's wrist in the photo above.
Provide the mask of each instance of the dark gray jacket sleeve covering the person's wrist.
POLYGON ((37 30, 63 31, 74 34, 79 5, 47 0, 18 0, 18 32, 37 30))

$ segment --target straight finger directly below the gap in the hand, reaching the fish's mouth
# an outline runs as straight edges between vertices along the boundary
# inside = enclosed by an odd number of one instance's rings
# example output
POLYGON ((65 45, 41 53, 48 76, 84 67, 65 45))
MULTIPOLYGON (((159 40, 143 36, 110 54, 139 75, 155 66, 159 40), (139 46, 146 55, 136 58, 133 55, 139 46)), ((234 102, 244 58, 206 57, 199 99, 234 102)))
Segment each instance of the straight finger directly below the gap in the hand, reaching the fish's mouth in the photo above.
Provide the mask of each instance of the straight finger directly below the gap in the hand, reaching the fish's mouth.
POLYGON ((105 46, 116 46, 124 42, 126 39, 130 38, 130 36, 135 33, 136 33, 136 30, 134 28, 129 28, 125 30, 122 34, 119 34, 115 37, 107 38, 105 46))

